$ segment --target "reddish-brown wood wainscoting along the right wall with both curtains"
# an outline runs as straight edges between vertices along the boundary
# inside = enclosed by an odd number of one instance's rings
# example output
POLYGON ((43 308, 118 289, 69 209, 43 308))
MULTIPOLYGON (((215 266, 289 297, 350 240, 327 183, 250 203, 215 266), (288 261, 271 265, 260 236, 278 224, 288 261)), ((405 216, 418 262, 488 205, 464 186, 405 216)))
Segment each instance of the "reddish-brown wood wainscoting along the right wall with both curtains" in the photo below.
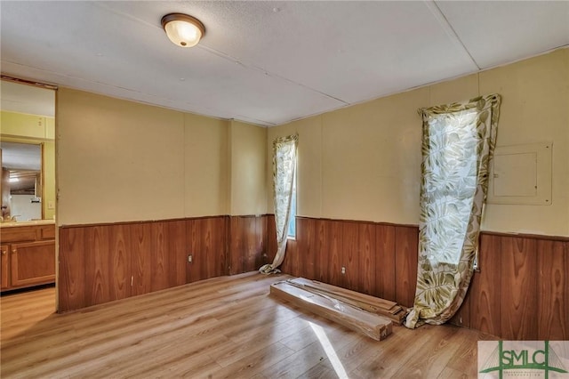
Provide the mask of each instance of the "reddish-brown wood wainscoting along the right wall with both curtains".
MULTIPOLYGON (((284 273, 413 306, 417 226, 307 217, 296 223, 284 273)), ((569 238, 480 238, 480 269, 451 323, 507 340, 569 340, 569 238)))

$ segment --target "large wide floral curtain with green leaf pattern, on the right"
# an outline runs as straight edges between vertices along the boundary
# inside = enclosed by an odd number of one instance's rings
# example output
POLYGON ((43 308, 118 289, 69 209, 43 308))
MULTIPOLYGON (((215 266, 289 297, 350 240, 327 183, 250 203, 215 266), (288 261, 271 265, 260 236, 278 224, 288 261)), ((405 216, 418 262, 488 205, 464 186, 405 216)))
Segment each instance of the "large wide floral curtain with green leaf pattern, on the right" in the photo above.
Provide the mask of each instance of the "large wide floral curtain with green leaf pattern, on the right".
POLYGON ((443 324, 469 288, 501 97, 419 109, 423 120, 419 264, 406 327, 443 324))

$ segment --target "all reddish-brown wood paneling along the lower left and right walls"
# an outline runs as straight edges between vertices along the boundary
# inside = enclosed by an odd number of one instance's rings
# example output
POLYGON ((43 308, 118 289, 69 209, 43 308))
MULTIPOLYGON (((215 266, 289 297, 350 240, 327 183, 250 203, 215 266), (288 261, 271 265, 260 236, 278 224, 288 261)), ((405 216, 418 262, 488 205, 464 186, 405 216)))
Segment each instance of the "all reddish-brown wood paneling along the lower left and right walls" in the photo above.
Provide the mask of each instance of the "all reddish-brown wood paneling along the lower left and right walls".
MULTIPOLYGON (((418 236, 416 226, 298 217, 280 269, 410 307, 418 236)), ((258 270, 275 253, 271 214, 63 227, 59 310, 258 270)), ((510 340, 569 340, 569 238, 483 232, 479 261, 452 323, 510 340)))

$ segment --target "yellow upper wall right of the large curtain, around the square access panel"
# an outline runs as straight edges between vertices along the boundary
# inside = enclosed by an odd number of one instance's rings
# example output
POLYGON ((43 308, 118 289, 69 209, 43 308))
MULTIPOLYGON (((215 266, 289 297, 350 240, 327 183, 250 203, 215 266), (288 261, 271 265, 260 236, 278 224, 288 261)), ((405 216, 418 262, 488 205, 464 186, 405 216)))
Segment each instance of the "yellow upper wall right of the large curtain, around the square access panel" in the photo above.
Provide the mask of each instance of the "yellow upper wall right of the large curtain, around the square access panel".
POLYGON ((489 205, 483 227, 569 236, 569 49, 483 72, 480 91, 503 96, 498 146, 553 142, 552 204, 489 205))

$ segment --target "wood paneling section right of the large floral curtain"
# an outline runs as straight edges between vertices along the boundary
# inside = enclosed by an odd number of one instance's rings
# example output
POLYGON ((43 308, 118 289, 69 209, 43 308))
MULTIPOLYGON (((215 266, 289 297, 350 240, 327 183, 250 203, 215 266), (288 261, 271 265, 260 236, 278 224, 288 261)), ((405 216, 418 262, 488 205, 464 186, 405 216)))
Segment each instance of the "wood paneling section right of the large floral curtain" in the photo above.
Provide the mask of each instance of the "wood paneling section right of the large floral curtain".
POLYGON ((569 340, 569 238, 482 233, 451 322, 506 340, 569 340))

